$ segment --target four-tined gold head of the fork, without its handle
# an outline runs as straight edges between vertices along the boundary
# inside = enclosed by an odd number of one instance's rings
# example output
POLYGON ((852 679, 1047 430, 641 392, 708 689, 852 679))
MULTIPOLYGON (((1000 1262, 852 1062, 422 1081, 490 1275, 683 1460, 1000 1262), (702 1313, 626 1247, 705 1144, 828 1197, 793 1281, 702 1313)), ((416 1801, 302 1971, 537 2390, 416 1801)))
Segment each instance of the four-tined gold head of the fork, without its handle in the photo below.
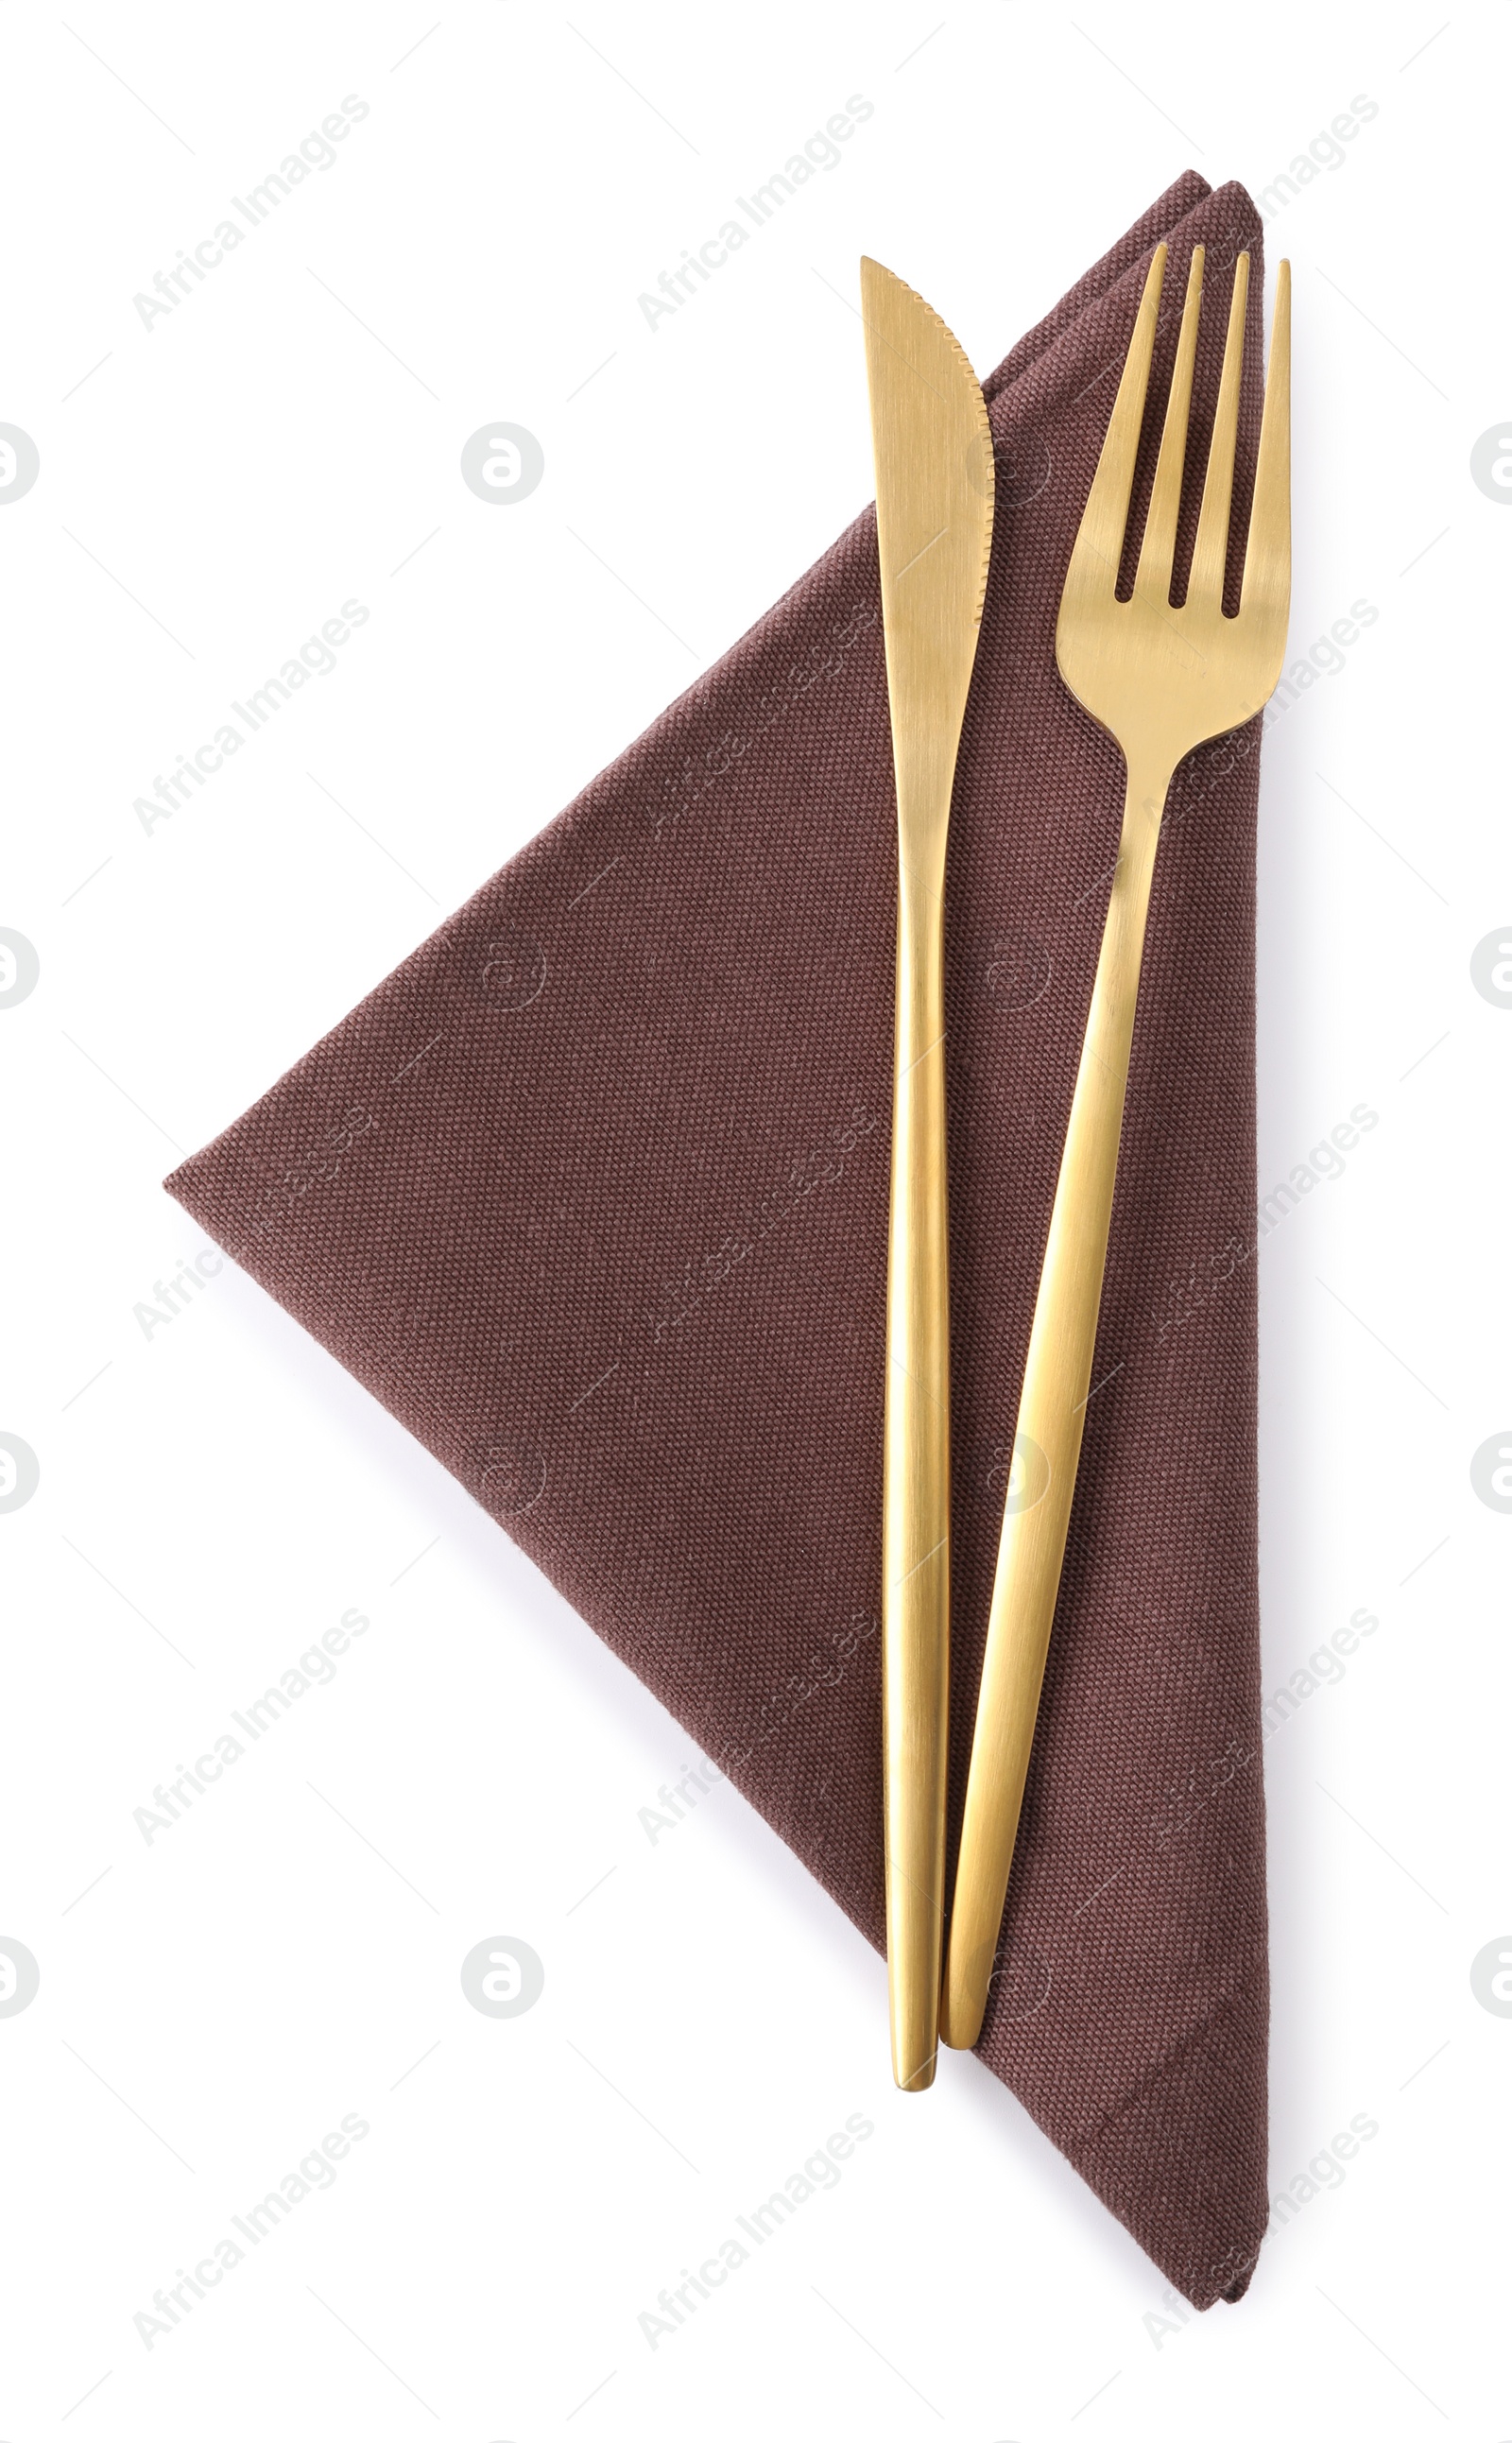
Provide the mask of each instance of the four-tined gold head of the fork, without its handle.
POLYGON ((1243 366, 1243 310, 1248 254, 1234 266, 1229 337, 1219 406, 1207 454, 1202 513, 1187 596, 1170 601, 1175 530, 1187 454, 1187 408, 1202 310, 1202 247, 1192 249, 1187 303, 1170 376, 1155 486, 1138 552, 1133 596, 1119 601, 1119 562, 1129 525, 1133 462, 1150 381, 1165 247, 1146 279, 1133 340, 1111 423, 1092 479, 1060 596, 1055 660, 1072 696, 1114 733, 1129 765, 1131 794, 1165 796, 1182 755, 1238 728, 1258 713, 1280 679, 1292 596, 1292 266, 1280 264, 1275 320, 1270 327, 1270 379, 1260 423, 1256 493, 1243 555, 1238 613, 1224 613, 1224 564, 1229 557, 1229 501, 1234 493, 1234 440, 1238 428, 1238 376, 1243 366))

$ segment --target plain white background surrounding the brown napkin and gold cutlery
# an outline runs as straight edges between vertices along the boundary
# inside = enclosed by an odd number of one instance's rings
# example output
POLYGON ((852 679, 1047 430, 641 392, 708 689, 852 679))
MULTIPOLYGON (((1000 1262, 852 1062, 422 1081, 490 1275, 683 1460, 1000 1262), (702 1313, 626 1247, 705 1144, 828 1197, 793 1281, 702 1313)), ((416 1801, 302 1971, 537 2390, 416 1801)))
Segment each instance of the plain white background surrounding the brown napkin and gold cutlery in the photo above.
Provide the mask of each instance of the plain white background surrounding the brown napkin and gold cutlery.
MULTIPOLYGON (((618 12, 520 0, 5 20, 0 418, 0 2018, 10 2443, 215 2433, 1512 2431, 1507 1544, 1512 410, 1505 12, 618 12), (435 17, 435 7, 445 15, 435 17), (344 95, 369 115, 171 315, 132 298, 344 95), (850 95, 872 120, 696 298, 638 293, 850 95), (1273 2194, 1378 2135, 1197 2318, 1016 2101, 887 2077, 879 1959, 684 1737, 159 1180, 713 660, 870 496, 862 249, 999 362, 1185 166, 1297 274, 1292 650, 1265 743, 1265 1686, 1380 1629, 1265 1749, 1273 2194), (545 481, 459 479, 508 418, 545 481), (347 599, 369 623, 144 833, 132 801, 347 599), (134 1810, 342 1610, 369 1634, 169 1832, 134 1810), (459 1962, 515 1935, 545 1996, 459 1962), (134 2316, 344 2113, 369 2135, 147 2350, 134 2316), (657 2350, 638 2316, 848 2113, 845 2177, 657 2350)), ((1512 1439, 1512 1434, 1510 1434, 1512 1439)), ((1510 1937, 1512 1940, 1512 1937, 1510 1937)))

